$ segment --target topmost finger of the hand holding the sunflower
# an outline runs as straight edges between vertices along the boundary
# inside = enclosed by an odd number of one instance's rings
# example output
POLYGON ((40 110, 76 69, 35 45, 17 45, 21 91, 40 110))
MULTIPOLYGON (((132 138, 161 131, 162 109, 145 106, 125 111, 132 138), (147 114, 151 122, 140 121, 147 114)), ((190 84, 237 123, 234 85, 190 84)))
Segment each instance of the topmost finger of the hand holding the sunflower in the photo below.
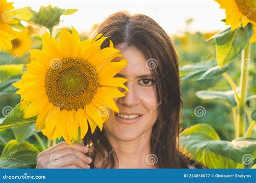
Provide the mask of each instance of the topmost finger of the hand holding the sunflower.
POLYGON ((45 151, 39 153, 39 154, 37 155, 37 161, 38 161, 39 158, 41 158, 41 157, 43 157, 43 156, 45 156, 45 155, 47 155, 47 154, 51 154, 51 153, 53 153, 53 152, 55 152, 55 151, 62 150, 62 149, 64 149, 65 147, 71 147, 71 148, 76 149, 76 150, 78 150, 78 151, 81 151, 81 152, 83 152, 83 153, 87 153, 87 152, 89 151, 88 147, 83 146, 83 145, 78 144, 78 143, 73 143, 73 146, 71 146, 71 145, 69 145, 69 144, 66 143, 66 142, 60 142, 60 143, 58 143, 58 144, 56 144, 56 145, 53 145, 53 146, 50 147, 49 149, 47 149, 47 150, 45 150, 45 151))

